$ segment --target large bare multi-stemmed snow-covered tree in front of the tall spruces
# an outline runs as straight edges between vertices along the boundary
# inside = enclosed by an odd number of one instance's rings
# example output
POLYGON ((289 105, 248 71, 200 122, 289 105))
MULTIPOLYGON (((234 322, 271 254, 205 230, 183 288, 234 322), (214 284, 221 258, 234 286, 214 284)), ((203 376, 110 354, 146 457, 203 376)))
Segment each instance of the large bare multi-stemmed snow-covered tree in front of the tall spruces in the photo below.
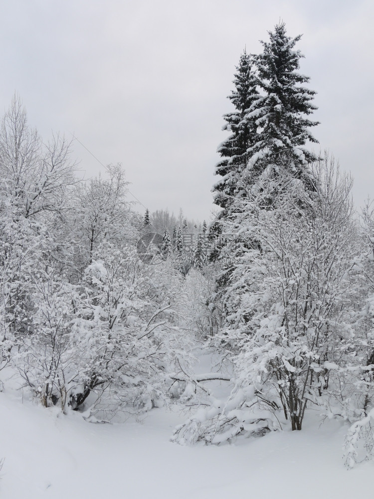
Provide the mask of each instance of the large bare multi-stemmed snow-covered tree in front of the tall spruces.
POLYGON ((300 430, 307 404, 341 396, 340 369, 354 339, 357 237, 350 180, 334 180, 329 168, 312 169, 314 193, 280 169, 282 195, 272 210, 262 201, 272 194, 270 172, 255 185, 249 179, 237 200, 231 231, 240 245, 224 291, 222 336, 234 352, 234 388, 180 426, 176 440, 218 444, 285 424, 300 430))

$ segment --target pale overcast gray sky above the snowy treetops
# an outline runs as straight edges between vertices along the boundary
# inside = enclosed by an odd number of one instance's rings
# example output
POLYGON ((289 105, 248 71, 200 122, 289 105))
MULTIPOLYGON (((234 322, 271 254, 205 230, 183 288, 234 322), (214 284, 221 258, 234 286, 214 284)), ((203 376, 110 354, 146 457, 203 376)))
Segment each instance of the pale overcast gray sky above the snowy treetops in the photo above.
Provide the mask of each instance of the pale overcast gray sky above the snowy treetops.
MULTIPOLYGON (((318 92, 320 146, 374 197, 374 2, 345 0, 2 0, 0 110, 16 91, 44 139, 79 140, 121 162, 150 211, 208 219, 222 114, 244 46, 282 19, 303 33, 301 71, 318 92)), ((77 142, 87 175, 102 168, 77 142)), ((140 211, 144 211, 142 207, 140 211)))

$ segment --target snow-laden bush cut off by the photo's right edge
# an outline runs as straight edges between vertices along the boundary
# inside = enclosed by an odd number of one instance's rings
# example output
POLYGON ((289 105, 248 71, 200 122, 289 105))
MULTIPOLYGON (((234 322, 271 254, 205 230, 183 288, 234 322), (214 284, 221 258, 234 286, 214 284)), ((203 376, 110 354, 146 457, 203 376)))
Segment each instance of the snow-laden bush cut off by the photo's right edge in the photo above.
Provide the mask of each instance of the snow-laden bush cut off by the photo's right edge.
POLYGON ((341 370, 341 397, 332 408, 353 422, 346 435, 344 460, 352 468, 359 460, 374 458, 374 210, 369 201, 361 214, 361 251, 355 259, 355 337, 346 369, 341 370))

